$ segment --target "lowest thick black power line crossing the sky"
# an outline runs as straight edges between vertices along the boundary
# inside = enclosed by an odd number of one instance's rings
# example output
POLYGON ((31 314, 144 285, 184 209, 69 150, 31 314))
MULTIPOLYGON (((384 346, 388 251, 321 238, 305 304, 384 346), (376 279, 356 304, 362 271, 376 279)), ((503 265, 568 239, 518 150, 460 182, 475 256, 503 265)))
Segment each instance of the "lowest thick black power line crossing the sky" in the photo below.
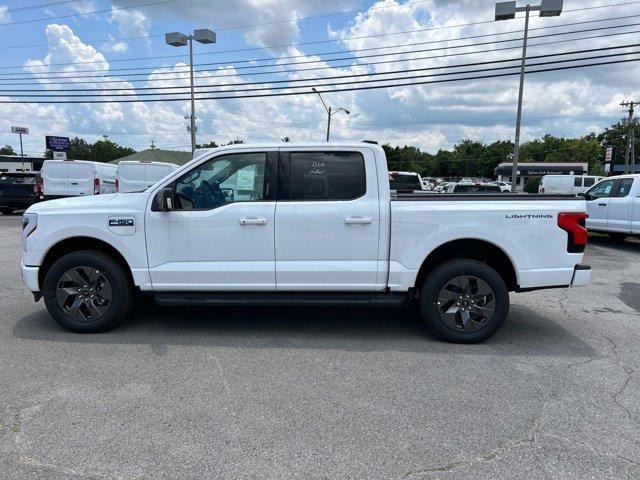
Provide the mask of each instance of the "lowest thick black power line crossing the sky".
MULTIPOLYGON (((623 64, 630 62, 637 62, 640 59, 628 59, 628 60, 612 60, 608 62, 596 62, 589 63, 584 65, 572 65, 566 67, 552 67, 545 68, 539 70, 530 70, 527 74, 534 73, 544 73, 544 72, 555 72, 561 70, 573 70, 577 68, 588 68, 602 65, 614 65, 614 64, 623 64)), ((485 80, 492 78, 502 78, 513 75, 519 75, 520 72, 514 73, 497 73, 491 75, 476 75, 472 77, 464 77, 464 78, 450 78, 450 79, 442 79, 442 80, 429 80, 429 81, 419 81, 419 82, 405 82, 405 83, 397 83, 393 85, 368 85, 362 87, 348 87, 348 88, 331 88, 325 90, 317 90, 320 93, 341 93, 341 92, 352 92, 352 91, 360 91, 360 90, 378 90, 385 88, 398 88, 398 87, 410 87, 416 85, 428 85, 428 84, 436 84, 436 83, 450 83, 450 82, 461 82, 461 81, 469 81, 469 80, 485 80)), ((294 95, 315 95, 313 91, 300 91, 300 92, 280 92, 280 93, 265 93, 265 94, 245 94, 245 95, 220 95, 215 97, 200 97, 198 100, 228 100, 228 99, 242 99, 242 98, 266 98, 266 97, 285 97, 285 96, 294 96, 294 95)), ((94 104, 94 103, 155 103, 155 102, 184 102, 185 98, 162 98, 162 99, 144 99, 144 100, 35 100, 35 101, 12 101, 12 100, 1 100, 1 104, 94 104)))

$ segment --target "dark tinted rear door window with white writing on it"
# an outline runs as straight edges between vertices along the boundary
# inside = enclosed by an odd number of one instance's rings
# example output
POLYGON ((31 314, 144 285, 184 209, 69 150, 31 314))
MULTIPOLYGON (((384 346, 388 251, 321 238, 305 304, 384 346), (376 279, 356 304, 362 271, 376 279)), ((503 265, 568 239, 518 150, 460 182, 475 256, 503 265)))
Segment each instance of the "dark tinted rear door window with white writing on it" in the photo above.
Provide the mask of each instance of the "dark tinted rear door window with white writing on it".
POLYGON ((292 152, 289 200, 353 200, 366 192, 358 152, 292 152))

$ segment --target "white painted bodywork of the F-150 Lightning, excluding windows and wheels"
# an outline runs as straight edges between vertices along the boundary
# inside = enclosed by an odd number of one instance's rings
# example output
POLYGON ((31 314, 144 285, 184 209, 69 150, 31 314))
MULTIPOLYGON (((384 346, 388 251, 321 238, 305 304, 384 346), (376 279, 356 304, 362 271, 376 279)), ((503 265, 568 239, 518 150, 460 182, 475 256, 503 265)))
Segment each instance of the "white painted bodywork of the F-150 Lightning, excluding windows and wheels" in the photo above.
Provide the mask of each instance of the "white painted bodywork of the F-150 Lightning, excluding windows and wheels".
MULTIPOLYGON (((88 248, 91 241, 100 240, 120 252, 141 290, 388 288, 406 292, 414 287, 422 263, 434 249, 453 240, 478 239, 505 252, 521 288, 568 286, 575 280, 574 269, 582 254, 567 253, 567 233, 557 226, 557 214, 584 211, 583 201, 532 201, 526 196, 392 201, 388 178, 384 151, 377 145, 268 144, 214 149, 143 193, 65 198, 32 206, 28 213, 37 214, 37 229, 24 240, 23 275, 28 288, 37 291, 37 269, 47 252, 65 239, 87 237, 88 248), (250 201, 209 211, 151 210, 161 188, 213 156, 305 149, 362 153, 366 194, 349 201, 250 201), (509 218, 513 214, 549 217, 509 218), (265 223, 240 222, 252 217, 265 219, 265 223), (109 219, 120 218, 131 218, 134 225, 109 227, 109 219), (345 223, 347 218, 371 221, 345 223)), ((585 275, 580 274, 579 284, 585 275)))

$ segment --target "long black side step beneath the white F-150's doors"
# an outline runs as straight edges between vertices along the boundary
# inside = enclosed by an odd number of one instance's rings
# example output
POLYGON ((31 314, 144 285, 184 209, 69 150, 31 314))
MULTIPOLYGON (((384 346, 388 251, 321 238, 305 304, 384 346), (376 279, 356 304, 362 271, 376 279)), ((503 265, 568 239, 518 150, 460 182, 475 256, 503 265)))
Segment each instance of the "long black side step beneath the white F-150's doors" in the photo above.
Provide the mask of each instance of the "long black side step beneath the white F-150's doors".
POLYGON ((208 305, 402 305, 406 293, 342 292, 167 292, 156 293, 160 306, 208 305))

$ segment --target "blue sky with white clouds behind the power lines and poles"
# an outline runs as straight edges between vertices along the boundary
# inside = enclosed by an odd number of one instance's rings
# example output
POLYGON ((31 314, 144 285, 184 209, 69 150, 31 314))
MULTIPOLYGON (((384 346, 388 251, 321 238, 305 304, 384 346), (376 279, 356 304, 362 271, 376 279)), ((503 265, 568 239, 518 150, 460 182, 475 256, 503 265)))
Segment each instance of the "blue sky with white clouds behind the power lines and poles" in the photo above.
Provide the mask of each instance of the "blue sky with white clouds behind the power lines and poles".
MULTIPOLYGON (((194 28, 211 28, 218 36, 215 45, 196 44, 196 64, 220 63, 201 67, 197 84, 233 89, 237 83, 362 73, 391 74, 407 68, 441 68, 456 63, 517 57, 517 42, 508 44, 514 47, 509 51, 471 53, 474 48, 481 51, 501 46, 473 47, 476 42, 518 38, 518 34, 514 37, 496 33, 516 31, 522 26, 520 20, 491 21, 493 2, 486 0, 159 2, 163 0, 0 0, 0 78, 3 81, 11 77, 29 79, 24 80, 29 85, 20 85, 22 81, 18 80, 11 82, 17 86, 4 88, 38 89, 52 94, 61 88, 100 89, 108 85, 122 88, 120 93, 139 95, 141 91, 132 90, 134 87, 183 87, 187 81, 183 79, 184 73, 181 76, 179 72, 184 72, 184 63, 181 62, 187 61, 187 49, 165 45, 163 34, 170 31, 189 32, 194 28), (103 12, 89 13, 95 11, 103 12), (246 25, 249 26, 238 28, 246 25), (453 28, 460 25, 466 26, 453 28), (407 31, 412 33, 382 35, 407 31), (450 55, 460 52, 455 47, 460 41, 456 43, 452 39, 479 35, 486 37, 467 40, 466 44, 470 47, 463 51, 468 51, 469 55, 458 58, 424 59, 425 54, 415 50, 424 50, 425 47, 410 46, 416 43, 432 46, 432 49, 438 49, 435 53, 450 55), (324 43, 261 48, 316 41, 324 43), (440 43, 427 43, 436 41, 440 43), (390 48, 368 50, 381 46, 390 48), (340 63, 326 62, 327 58, 336 55, 318 56, 326 52, 354 49, 358 52, 341 55, 358 58, 340 63), (391 55, 399 52, 405 54, 400 57, 391 55), (384 53, 386 56, 372 58, 370 55, 375 53, 384 53), (281 59, 279 63, 301 62, 302 65, 278 67, 276 62, 282 56, 293 57, 294 60, 281 59), (284 72, 255 75, 251 72, 259 71, 260 67, 256 67, 257 70, 242 68, 251 65, 248 61, 262 58, 273 58, 274 61, 257 62, 256 65, 271 64, 268 71, 284 72), (359 65, 389 59, 395 60, 394 63, 359 65), (317 70, 290 71, 303 68, 317 70), (94 77, 89 84, 87 80, 73 78, 74 75, 94 77), (65 80, 65 85, 60 85, 61 77, 70 79, 65 80), (103 83, 106 80, 111 83, 103 83), (73 85, 78 82, 84 83, 73 85)), ((540 38, 532 40, 531 54, 633 43, 637 34, 583 38, 635 31, 632 26, 626 29, 614 27, 621 22, 640 22, 640 2, 615 0, 615 3, 625 5, 591 9, 605 3, 612 2, 566 0, 566 12, 560 18, 534 17, 534 29, 619 16, 625 16, 628 20, 533 31, 532 35, 540 38), (553 37, 561 39, 563 42, 560 44, 535 45, 544 43, 547 34, 595 27, 601 27, 602 30, 592 34, 553 37)), ((616 52, 630 53, 633 50, 616 52)), ((622 116, 618 105, 622 99, 640 97, 634 80, 638 78, 638 73, 636 63, 627 63, 528 77, 525 90, 525 139, 545 133, 578 136, 589 131, 601 131, 622 116)), ((352 112, 349 116, 335 117, 332 134, 336 140, 374 138, 436 151, 450 147, 461 138, 481 141, 512 139, 516 94, 517 78, 506 77, 455 84, 327 93, 325 100, 334 107, 345 107, 352 112)), ((16 100, 11 95, 0 92, 0 98, 16 100)), ((31 134, 26 139, 25 148, 33 153, 42 152, 45 135, 79 135, 90 141, 108 135, 110 139, 136 149, 146 148, 151 139, 161 148, 186 150, 189 146, 189 134, 185 128, 187 122, 183 118, 188 114, 187 102, 36 105, 21 101, 4 104, 3 110, 4 114, 0 116, 0 144, 17 147, 17 138, 10 133, 10 126, 27 126, 31 134)), ((326 117, 319 100, 312 95, 201 100, 197 102, 196 115, 198 141, 202 142, 224 142, 234 138, 277 141, 283 136, 301 141, 322 140, 326 117)))

